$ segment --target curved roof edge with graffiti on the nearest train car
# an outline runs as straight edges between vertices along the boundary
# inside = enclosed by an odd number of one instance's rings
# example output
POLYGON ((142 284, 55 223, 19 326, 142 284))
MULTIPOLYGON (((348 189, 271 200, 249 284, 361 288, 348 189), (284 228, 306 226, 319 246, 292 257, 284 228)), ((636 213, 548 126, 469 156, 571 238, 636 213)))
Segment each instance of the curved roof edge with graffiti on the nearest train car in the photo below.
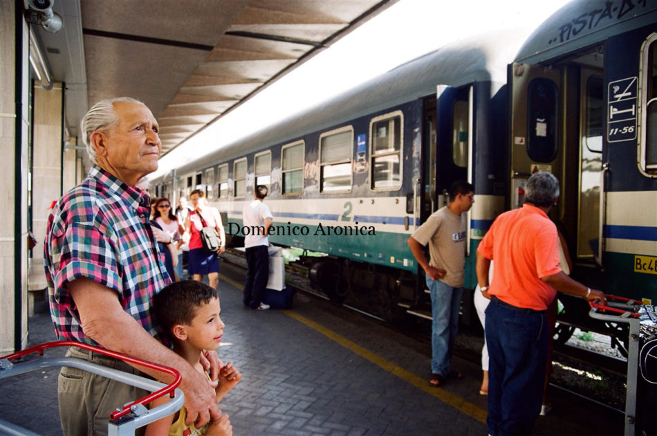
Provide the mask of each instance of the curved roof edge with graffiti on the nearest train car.
POLYGON ((515 62, 536 64, 657 23, 657 0, 575 0, 528 37, 515 62))

